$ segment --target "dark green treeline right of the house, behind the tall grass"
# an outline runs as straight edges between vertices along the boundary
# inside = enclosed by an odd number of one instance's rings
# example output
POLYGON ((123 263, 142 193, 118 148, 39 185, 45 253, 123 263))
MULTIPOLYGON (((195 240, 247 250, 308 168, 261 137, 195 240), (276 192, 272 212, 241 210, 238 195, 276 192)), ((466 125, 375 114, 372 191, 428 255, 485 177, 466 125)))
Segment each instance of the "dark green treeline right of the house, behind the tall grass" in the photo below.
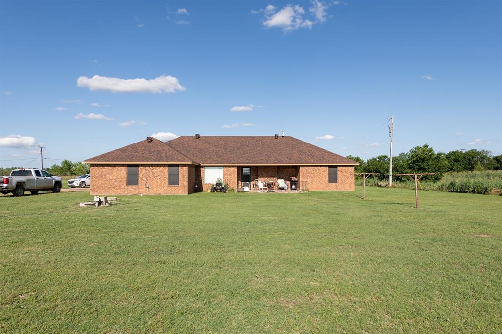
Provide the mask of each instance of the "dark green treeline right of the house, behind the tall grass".
MULTIPOLYGON (((380 173, 378 179, 389 179, 389 156, 379 155, 364 161, 359 156, 347 156, 359 162, 356 173, 380 173)), ((409 152, 401 153, 392 158, 392 174, 436 173, 424 180, 439 181, 445 173, 470 171, 502 170, 502 154, 493 156, 488 150, 470 149, 468 151, 434 152, 428 144, 416 146, 409 152)), ((393 180, 405 181, 394 177, 393 180)))

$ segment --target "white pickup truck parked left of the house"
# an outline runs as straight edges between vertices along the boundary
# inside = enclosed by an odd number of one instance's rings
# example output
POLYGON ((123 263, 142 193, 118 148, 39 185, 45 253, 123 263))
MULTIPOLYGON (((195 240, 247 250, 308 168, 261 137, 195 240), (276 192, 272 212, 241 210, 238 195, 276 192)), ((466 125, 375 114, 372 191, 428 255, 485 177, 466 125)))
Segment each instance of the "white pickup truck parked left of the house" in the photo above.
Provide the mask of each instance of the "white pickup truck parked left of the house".
POLYGON ((14 170, 9 177, 0 178, 0 193, 14 196, 23 196, 25 191, 33 195, 39 191, 52 190, 53 193, 61 191, 61 178, 55 177, 42 170, 14 170))

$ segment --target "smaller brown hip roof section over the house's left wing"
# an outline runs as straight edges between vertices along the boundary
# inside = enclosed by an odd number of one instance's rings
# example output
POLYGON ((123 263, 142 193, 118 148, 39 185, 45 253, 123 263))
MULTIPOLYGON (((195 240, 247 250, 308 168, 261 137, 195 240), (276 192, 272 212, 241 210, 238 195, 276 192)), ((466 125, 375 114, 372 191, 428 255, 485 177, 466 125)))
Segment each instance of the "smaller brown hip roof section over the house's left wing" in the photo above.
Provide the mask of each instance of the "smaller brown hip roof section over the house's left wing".
POLYGON ((113 151, 86 159, 84 162, 187 162, 192 159, 166 145, 159 139, 152 138, 137 143, 117 148, 113 151))

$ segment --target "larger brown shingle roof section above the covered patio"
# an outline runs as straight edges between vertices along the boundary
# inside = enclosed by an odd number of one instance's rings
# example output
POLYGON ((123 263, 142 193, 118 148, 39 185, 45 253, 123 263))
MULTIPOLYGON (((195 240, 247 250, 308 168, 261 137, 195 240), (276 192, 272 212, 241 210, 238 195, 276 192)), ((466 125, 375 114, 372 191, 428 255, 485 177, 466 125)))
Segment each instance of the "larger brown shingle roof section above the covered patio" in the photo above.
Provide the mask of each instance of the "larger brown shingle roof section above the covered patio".
POLYGON ((291 136, 181 136, 166 143, 201 164, 358 164, 291 136))

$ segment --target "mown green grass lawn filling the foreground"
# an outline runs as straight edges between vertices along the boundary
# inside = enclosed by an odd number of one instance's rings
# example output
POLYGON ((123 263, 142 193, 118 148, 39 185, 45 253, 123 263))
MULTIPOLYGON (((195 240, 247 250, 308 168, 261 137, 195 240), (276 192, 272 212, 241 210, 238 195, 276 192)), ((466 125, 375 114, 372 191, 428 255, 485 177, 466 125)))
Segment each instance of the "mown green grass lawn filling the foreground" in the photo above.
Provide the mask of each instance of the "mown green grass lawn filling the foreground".
POLYGON ((502 198, 0 196, 0 331, 500 332, 502 198))

